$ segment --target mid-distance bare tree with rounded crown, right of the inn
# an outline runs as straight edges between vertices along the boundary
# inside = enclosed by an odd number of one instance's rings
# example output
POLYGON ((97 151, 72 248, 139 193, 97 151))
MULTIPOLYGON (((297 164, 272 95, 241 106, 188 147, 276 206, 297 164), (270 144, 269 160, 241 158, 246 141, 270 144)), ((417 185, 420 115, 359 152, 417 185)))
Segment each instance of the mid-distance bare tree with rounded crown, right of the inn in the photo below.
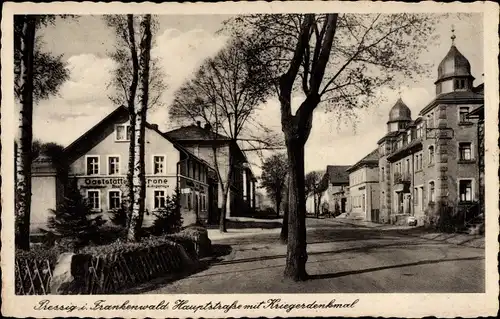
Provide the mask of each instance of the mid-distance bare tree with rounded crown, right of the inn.
POLYGON ((276 136, 254 118, 257 106, 266 100, 271 87, 261 76, 261 66, 249 63, 247 52, 252 49, 237 39, 231 41, 214 58, 207 59, 195 77, 176 92, 170 108, 170 116, 177 122, 203 120, 210 124, 213 163, 222 192, 221 232, 226 231, 227 198, 237 165, 230 150, 221 154, 217 142, 221 134, 229 138, 230 147, 247 145, 243 151, 279 148, 276 136), (258 129, 251 130, 250 125, 258 129))

